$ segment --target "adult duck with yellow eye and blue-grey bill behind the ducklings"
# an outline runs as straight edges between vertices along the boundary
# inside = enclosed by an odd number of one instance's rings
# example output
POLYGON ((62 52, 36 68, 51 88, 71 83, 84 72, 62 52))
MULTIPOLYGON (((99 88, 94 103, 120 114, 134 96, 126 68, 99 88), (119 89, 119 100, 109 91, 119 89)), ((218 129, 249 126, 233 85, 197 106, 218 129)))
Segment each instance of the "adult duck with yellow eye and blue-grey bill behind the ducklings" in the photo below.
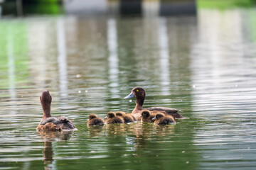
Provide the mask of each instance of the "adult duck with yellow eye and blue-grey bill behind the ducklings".
MULTIPOLYGON (((132 115, 134 115, 136 118, 139 117, 140 113, 142 112, 144 99, 146 96, 146 92, 141 87, 134 87, 132 89, 131 94, 126 96, 125 98, 136 98, 136 106, 134 110, 132 111, 132 115)), ((166 115, 172 115, 174 118, 183 118, 183 115, 179 114, 177 109, 175 108, 165 108, 165 107, 151 107, 151 108, 144 108, 149 111, 159 111, 161 113, 164 113, 166 115)))

